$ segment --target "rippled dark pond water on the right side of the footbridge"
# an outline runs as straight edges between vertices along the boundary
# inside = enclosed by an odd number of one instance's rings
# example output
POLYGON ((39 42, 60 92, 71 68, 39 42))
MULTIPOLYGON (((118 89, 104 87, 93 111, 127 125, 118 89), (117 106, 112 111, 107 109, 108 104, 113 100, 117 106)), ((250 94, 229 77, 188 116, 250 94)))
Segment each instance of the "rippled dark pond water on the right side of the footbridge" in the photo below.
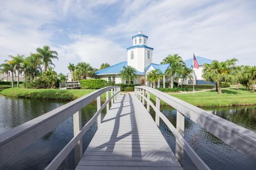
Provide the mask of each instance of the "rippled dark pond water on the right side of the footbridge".
MULTIPOLYGON (((225 107, 225 108, 203 108, 228 121, 239 124, 247 129, 255 131, 255 106, 248 107, 225 107)), ((176 111, 172 107, 161 107, 162 113, 176 126, 176 111)), ((155 117, 154 111, 150 114, 155 117)), ((175 152, 175 137, 161 122, 160 130, 175 152)), ((196 153, 211 169, 255 169, 256 163, 247 159, 235 149, 214 137, 211 133, 185 117, 185 139, 196 153)), ((185 154, 184 169, 196 169, 189 157, 185 154)))

